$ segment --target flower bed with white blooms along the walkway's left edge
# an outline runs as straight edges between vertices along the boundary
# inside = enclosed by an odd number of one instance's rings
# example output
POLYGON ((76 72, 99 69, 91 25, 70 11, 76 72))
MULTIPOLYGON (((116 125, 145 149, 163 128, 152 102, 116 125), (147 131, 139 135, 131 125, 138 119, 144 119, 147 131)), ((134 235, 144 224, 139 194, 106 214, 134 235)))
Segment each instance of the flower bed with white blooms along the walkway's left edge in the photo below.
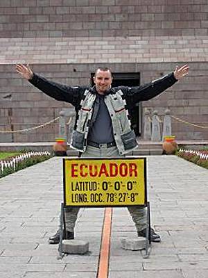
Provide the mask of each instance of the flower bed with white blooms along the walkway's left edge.
POLYGON ((27 152, 0 161, 0 178, 51 158, 49 152, 27 152))

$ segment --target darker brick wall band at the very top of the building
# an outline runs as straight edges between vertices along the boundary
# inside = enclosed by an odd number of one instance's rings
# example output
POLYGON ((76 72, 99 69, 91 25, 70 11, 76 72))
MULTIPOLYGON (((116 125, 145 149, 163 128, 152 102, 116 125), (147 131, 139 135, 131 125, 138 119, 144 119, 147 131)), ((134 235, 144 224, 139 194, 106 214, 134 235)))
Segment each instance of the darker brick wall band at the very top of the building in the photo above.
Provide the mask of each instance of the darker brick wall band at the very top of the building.
POLYGON ((205 0, 1 0, 0 38, 207 35, 205 0))

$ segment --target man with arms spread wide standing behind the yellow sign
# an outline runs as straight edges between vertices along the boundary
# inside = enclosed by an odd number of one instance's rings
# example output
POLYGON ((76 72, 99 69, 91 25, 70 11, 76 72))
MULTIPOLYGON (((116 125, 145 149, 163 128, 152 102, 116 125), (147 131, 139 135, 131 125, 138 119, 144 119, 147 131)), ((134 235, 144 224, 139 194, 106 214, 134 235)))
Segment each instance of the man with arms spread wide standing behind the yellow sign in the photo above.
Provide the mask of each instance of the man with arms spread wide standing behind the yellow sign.
MULTIPOLYGON (((156 97, 171 87, 177 80, 189 72, 188 65, 176 67, 174 72, 167 74, 146 85, 139 87, 112 88, 112 73, 105 68, 95 72, 93 88, 69 87, 44 79, 33 73, 29 65, 16 65, 21 76, 35 85, 42 92, 59 101, 72 104, 76 110, 71 147, 82 153, 82 157, 125 157, 125 154, 137 147, 135 133, 130 120, 132 107, 139 101, 156 97)), ((66 229, 64 238, 73 239, 77 207, 65 211, 66 229)), ((138 236, 146 236, 146 209, 138 206, 128 206, 128 211, 135 222, 138 236)), ((49 238, 49 243, 59 243, 60 232, 49 238)), ((160 237, 153 229, 150 230, 153 242, 159 242, 160 237)))

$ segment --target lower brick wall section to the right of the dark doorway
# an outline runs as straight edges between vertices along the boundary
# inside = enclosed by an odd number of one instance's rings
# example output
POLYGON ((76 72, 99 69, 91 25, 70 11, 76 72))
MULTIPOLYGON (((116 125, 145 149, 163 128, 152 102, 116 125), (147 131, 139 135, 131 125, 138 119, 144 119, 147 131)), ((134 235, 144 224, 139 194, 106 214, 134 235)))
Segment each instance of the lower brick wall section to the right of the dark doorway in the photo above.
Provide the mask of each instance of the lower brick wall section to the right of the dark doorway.
MULTIPOLYGON (((161 74, 173 69, 175 63, 150 64, 148 69, 142 70, 143 82, 149 79, 159 78, 161 74), (154 71, 155 69, 155 71, 154 71)), ((208 63, 189 63, 189 75, 177 82, 158 97, 143 102, 143 109, 151 113, 157 110, 159 117, 163 119, 166 108, 171 110, 171 115, 182 120, 200 126, 208 126, 208 94, 207 94, 207 71, 208 63)), ((179 140, 207 140, 208 129, 200 129, 189 124, 183 124, 172 119, 173 134, 179 140)), ((162 127, 162 126, 161 126, 162 127)))

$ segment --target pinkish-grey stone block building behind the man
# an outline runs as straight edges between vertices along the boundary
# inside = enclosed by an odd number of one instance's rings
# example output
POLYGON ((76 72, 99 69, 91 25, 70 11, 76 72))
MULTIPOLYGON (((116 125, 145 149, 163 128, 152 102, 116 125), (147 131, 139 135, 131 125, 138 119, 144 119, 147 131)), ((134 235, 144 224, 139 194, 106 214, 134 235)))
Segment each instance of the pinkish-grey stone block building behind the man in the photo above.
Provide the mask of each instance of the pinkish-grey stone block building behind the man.
MULTIPOLYGON (((187 78, 155 99, 135 106, 137 134, 144 112, 157 109, 191 124, 208 126, 208 3, 205 0, 1 0, 0 130, 49 122, 69 104, 33 88, 15 63, 68 85, 92 83, 107 65, 114 85, 139 85, 188 63, 187 78), (139 119, 139 120, 138 120, 139 119)), ((179 140, 207 140, 208 129, 173 119, 179 140)), ((0 142, 53 141, 58 122, 24 133, 0 133, 0 142)))

